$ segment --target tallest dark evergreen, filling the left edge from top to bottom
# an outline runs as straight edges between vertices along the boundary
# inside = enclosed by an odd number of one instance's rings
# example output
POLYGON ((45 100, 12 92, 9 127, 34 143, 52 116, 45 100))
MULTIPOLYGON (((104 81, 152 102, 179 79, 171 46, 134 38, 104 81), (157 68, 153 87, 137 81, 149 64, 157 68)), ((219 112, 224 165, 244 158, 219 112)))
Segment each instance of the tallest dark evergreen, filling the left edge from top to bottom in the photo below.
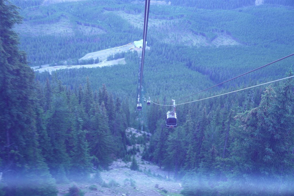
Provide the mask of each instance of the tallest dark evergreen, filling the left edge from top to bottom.
POLYGON ((36 130, 34 72, 18 50, 12 30, 20 23, 16 6, 0 0, 0 167, 6 195, 56 195, 55 182, 41 155, 36 130))

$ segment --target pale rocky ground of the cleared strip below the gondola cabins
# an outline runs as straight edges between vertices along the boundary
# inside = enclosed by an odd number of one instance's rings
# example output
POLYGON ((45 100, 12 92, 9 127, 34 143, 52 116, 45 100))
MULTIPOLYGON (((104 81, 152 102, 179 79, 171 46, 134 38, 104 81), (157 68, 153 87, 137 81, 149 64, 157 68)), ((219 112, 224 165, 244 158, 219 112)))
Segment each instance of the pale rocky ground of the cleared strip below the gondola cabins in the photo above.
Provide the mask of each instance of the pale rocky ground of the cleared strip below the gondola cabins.
MULTIPOLYGON (((136 133, 135 129, 128 129, 127 132, 132 131, 136 133)), ((139 136, 143 133, 137 132, 139 136)), ((141 150, 140 145, 138 145, 141 150)), ((110 170, 102 171, 101 177, 109 188, 102 187, 95 182, 85 183, 69 183, 66 185, 59 185, 59 194, 66 195, 73 184, 76 184, 79 189, 84 192, 85 196, 180 196, 182 189, 181 182, 176 182, 173 179, 173 174, 160 169, 148 161, 141 160, 141 154, 137 153, 136 161, 139 165, 139 171, 130 169, 131 162, 125 163, 121 159, 114 161, 109 167, 110 170)))

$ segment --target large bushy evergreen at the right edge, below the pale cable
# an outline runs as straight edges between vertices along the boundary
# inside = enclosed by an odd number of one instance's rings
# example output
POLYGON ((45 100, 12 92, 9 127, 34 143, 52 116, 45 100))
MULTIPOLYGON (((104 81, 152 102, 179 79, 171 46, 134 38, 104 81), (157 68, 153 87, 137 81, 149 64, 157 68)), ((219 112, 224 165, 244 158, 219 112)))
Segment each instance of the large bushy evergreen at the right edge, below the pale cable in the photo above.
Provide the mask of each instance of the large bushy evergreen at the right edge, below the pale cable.
MULTIPOLYGON (((288 80, 281 90, 268 87, 258 107, 236 116, 234 175, 243 176, 250 190, 258 187, 267 195, 293 191, 293 101, 293 81, 288 80)), ((243 192, 253 194, 250 190, 243 192)))

